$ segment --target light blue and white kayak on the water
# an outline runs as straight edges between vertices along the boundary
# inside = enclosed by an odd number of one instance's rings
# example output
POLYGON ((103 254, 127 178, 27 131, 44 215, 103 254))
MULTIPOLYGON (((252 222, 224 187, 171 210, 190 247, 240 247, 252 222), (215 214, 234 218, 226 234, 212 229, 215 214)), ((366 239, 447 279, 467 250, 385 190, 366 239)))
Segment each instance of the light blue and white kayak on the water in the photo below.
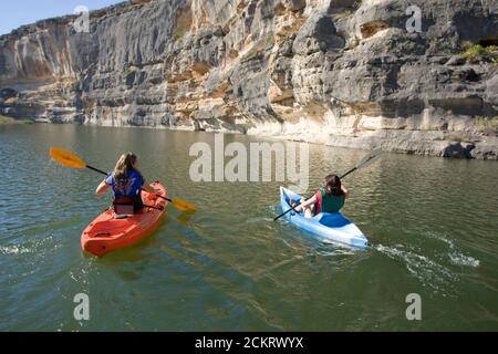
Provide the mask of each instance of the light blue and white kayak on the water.
MULTIPOLYGON (((292 199, 299 205, 302 197, 280 187, 280 207, 283 211, 291 208, 292 199)), ((321 212, 308 219, 302 214, 291 211, 286 215, 286 218, 298 228, 315 235, 322 242, 340 242, 357 248, 369 247, 369 240, 363 232, 341 212, 321 212)))

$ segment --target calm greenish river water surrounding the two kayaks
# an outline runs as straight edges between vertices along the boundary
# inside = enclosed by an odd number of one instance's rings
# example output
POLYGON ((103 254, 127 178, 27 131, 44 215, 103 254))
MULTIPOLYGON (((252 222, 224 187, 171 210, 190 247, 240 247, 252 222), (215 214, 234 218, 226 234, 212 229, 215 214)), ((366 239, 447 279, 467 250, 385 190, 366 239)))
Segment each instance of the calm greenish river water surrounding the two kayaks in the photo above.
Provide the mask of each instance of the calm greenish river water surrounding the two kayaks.
MULTIPOLYGON (((249 144, 255 138, 226 136, 249 144)), ((0 330, 498 330, 498 164, 385 154, 344 183, 372 248, 321 244, 277 214, 278 183, 194 184, 188 148, 208 133, 0 127, 0 330), (149 180, 195 202, 103 259, 80 236, 111 197, 101 176, 51 162, 59 146, 111 169, 133 149, 149 180), (90 296, 91 320, 73 317, 90 296), (405 298, 422 296, 422 321, 405 298)), ((310 146, 310 188, 365 152, 310 146)))

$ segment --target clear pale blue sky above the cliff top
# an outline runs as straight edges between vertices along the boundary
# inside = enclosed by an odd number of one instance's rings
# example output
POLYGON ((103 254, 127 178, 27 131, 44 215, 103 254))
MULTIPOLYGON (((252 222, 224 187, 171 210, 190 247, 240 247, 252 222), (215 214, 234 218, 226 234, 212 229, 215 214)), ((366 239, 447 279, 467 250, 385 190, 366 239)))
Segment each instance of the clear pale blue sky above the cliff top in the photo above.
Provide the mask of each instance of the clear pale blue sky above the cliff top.
POLYGON ((105 8, 123 0, 7 0, 1 2, 0 34, 39 20, 71 14, 77 6, 90 10, 105 8))

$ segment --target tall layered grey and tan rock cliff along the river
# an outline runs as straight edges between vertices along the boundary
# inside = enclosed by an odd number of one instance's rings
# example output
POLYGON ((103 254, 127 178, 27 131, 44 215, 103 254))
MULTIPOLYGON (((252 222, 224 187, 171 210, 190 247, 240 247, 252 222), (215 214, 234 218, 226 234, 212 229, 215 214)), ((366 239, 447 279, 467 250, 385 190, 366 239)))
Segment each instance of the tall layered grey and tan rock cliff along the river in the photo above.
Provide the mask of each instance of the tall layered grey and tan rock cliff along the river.
POLYGON ((498 0, 135 0, 77 21, 0 37, 0 114, 498 159, 498 0))

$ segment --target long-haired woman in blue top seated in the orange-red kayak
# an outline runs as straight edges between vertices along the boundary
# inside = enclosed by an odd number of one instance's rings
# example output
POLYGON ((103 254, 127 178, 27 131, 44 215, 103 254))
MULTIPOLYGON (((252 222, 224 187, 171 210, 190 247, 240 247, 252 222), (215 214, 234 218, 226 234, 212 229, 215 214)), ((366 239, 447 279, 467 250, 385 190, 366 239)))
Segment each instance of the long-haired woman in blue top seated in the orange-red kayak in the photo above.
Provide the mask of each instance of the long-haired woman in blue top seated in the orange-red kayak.
POLYGON ((95 192, 101 196, 110 188, 114 191, 114 208, 133 206, 134 212, 144 208, 142 190, 156 192, 153 187, 145 184, 145 178, 138 170, 138 159, 133 153, 121 155, 114 171, 98 185, 95 192))

